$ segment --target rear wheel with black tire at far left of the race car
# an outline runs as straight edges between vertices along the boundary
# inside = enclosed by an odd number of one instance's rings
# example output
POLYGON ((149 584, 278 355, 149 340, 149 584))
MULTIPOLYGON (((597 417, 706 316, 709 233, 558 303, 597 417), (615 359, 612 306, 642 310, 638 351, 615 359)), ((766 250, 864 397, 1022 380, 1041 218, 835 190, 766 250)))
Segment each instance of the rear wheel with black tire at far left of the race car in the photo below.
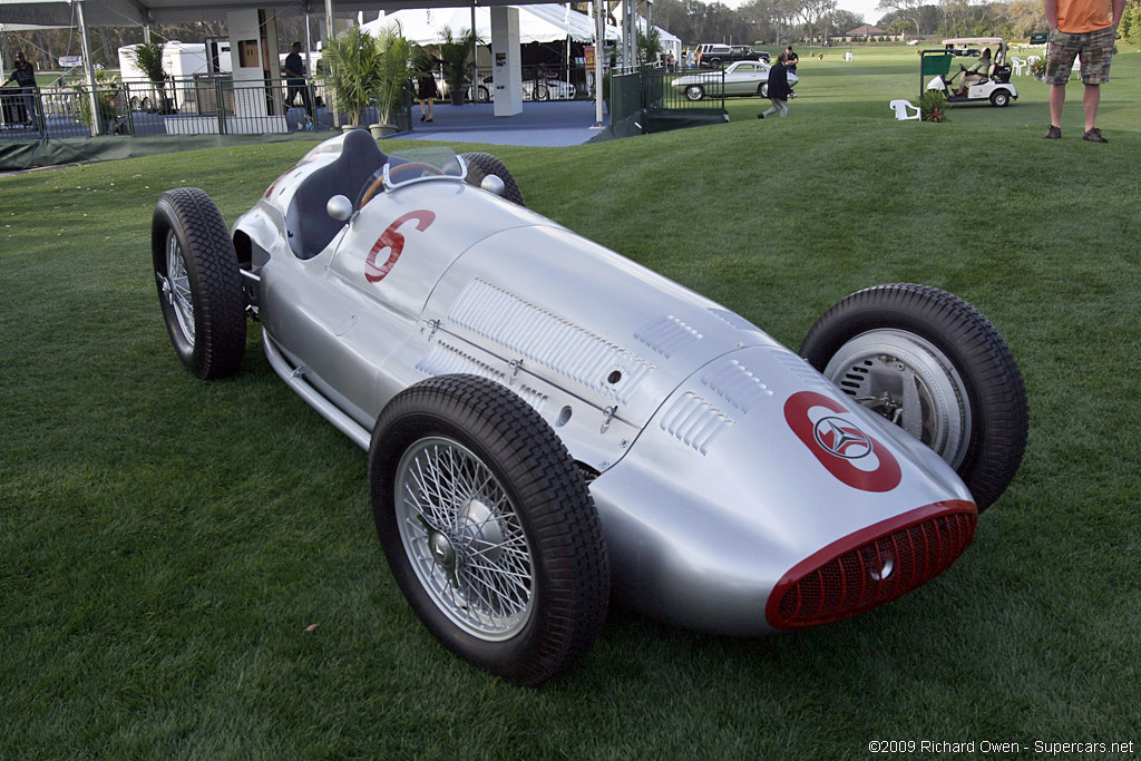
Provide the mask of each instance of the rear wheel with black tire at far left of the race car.
POLYGON ((203 380, 237 372, 245 353, 242 275, 226 221, 210 196, 196 187, 159 196, 151 253, 178 358, 203 380))

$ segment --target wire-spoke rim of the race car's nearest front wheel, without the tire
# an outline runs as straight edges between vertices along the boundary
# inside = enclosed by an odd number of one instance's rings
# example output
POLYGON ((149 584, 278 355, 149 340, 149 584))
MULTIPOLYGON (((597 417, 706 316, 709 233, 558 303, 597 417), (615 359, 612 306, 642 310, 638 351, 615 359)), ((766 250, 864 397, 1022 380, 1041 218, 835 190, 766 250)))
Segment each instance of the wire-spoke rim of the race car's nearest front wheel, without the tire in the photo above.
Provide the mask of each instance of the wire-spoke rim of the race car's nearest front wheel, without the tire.
POLYGON ((404 551, 432 601, 474 637, 502 640, 526 625, 533 560, 515 505, 467 447, 413 444, 396 471, 404 551))

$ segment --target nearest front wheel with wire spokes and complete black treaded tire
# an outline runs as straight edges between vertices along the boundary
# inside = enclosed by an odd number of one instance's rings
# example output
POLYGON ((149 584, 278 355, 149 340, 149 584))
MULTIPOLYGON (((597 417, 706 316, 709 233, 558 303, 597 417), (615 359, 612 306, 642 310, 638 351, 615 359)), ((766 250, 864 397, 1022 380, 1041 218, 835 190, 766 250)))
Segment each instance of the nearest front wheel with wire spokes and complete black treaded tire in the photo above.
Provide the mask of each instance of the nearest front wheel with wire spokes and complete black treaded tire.
POLYGON ((393 575, 445 647, 521 685, 586 653, 609 600, 601 526, 570 455, 523 399, 475 375, 416 383, 377 421, 369 485, 393 575))

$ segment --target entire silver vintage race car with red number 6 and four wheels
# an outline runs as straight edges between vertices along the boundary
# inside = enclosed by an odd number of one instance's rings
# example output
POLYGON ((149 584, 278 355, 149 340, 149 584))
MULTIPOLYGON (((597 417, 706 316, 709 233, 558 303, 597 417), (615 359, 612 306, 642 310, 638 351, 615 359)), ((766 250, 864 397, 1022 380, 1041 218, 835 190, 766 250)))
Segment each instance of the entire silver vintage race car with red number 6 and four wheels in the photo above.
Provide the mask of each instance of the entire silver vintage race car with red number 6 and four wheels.
POLYGON ((612 590, 729 634, 868 610, 945 570, 1013 477, 1021 377, 962 300, 860 291, 802 358, 527 210, 494 156, 437 154, 335 137, 232 234, 205 193, 168 191, 153 264, 191 372, 236 372, 252 317, 367 450, 396 581, 478 666, 566 671, 612 590))

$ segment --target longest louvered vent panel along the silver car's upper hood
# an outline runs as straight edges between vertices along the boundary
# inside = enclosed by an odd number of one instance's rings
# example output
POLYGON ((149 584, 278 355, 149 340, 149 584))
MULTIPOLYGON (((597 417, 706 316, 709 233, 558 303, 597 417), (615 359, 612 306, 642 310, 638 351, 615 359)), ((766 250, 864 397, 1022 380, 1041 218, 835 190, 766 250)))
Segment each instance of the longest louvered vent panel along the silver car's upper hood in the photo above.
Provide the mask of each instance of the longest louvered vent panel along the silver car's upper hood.
POLYGON ((638 355, 480 280, 452 305, 448 319, 625 404, 655 366, 638 355))

